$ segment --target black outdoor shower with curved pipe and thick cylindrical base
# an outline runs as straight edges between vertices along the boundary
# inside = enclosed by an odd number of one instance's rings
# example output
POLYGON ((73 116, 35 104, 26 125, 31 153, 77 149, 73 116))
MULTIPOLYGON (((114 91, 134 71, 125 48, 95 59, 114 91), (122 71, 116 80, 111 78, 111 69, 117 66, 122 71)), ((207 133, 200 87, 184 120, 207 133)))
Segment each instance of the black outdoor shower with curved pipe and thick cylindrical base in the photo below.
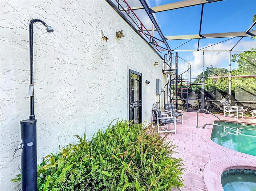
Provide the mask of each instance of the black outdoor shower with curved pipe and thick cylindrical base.
MULTIPOLYGON (((36 119, 34 115, 34 68, 33 68, 33 24, 40 22, 46 27, 47 32, 53 28, 40 19, 32 19, 29 24, 29 56, 30 56, 30 116, 29 119, 20 121, 22 143, 17 146, 21 151, 21 190, 37 190, 37 153, 36 153, 36 119)), ((13 155, 14 155, 13 154, 13 155)))

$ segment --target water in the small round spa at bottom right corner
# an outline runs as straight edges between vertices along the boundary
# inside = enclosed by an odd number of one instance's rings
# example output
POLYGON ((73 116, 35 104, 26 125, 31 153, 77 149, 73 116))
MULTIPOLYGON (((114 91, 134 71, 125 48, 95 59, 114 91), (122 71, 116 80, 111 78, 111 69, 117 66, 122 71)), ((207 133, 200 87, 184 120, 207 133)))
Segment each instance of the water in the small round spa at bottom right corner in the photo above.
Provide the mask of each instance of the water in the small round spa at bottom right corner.
POLYGON ((227 175, 221 178, 224 191, 255 191, 256 176, 245 174, 227 175))

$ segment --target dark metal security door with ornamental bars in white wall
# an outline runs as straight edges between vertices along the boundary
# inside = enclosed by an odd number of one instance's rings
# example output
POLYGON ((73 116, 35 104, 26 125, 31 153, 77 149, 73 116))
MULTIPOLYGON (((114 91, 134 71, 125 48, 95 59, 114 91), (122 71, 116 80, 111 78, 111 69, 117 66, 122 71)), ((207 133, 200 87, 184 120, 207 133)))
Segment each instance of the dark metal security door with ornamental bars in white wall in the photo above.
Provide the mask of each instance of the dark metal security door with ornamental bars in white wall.
POLYGON ((141 123, 141 73, 130 70, 129 120, 141 123))

